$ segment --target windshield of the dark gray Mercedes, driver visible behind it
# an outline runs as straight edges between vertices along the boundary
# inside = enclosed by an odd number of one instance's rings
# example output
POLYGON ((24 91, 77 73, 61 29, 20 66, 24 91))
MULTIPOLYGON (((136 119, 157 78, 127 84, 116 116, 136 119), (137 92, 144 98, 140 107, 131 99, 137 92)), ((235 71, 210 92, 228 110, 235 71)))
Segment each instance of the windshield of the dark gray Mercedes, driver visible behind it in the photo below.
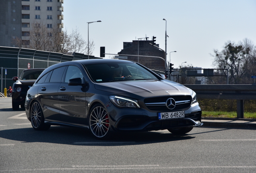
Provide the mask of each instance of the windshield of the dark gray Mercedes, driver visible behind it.
POLYGON ((136 63, 85 64, 94 82, 114 82, 122 80, 155 80, 153 73, 136 63))

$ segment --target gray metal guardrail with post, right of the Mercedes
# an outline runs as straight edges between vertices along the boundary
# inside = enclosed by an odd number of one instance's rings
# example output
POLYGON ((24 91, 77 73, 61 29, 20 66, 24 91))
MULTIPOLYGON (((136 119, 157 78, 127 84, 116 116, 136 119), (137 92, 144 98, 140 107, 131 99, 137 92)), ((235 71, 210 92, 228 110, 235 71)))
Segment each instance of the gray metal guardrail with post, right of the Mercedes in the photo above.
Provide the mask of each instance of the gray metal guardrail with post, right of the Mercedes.
POLYGON ((198 99, 237 100, 237 118, 244 118, 244 100, 256 100, 256 85, 251 84, 184 84, 196 92, 198 99))

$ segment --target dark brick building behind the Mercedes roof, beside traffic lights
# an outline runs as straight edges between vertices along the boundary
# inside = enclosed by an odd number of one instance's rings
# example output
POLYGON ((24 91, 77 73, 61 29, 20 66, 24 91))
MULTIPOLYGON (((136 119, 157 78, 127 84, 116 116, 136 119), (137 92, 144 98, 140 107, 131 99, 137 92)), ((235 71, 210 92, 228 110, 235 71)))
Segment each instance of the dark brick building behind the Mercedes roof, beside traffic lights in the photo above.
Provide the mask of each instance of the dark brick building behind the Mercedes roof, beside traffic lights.
MULTIPOLYGON (((120 52, 118 52, 118 54, 159 56, 164 59, 165 53, 149 43, 153 44, 153 40, 133 40, 132 42, 124 42, 124 47, 120 52)), ((156 46, 159 47, 158 44, 156 44, 156 46)), ((153 57, 138 58, 138 56, 128 56, 128 60, 139 62, 147 68, 159 71, 165 71, 165 61, 163 59, 153 57)))

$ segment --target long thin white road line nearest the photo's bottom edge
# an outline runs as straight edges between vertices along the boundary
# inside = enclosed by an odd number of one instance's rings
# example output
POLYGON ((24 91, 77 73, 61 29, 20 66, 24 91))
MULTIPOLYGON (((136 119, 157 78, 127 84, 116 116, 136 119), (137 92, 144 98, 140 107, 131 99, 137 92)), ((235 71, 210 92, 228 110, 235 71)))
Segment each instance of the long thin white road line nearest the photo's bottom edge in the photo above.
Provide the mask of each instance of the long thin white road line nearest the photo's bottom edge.
MULTIPOLYGON (((156 169, 159 171, 159 169, 219 169, 219 168, 236 168, 236 169, 244 169, 244 168, 249 168, 249 169, 255 169, 256 166, 188 166, 188 167, 160 167, 159 165, 112 165, 112 166, 90 166, 90 165, 85 165, 85 166, 72 166, 68 168, 37 168, 37 169, 8 169, 8 170, 0 170, 0 172, 27 172, 27 171, 54 171, 54 170, 127 170, 127 169, 141 169, 141 170, 146 170, 146 169, 156 169)), ((244 170, 243 170, 244 171, 244 170)))

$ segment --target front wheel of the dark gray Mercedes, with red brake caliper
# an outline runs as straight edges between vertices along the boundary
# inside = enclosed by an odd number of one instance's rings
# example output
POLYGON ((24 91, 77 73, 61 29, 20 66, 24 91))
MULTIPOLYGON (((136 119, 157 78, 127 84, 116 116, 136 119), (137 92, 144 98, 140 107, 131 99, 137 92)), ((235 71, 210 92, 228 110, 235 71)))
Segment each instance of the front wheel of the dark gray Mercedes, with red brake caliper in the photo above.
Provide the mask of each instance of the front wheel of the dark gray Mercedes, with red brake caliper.
POLYGON ((92 107, 89 113, 88 121, 89 129, 94 137, 104 140, 109 139, 109 115, 102 105, 97 104, 92 107))

